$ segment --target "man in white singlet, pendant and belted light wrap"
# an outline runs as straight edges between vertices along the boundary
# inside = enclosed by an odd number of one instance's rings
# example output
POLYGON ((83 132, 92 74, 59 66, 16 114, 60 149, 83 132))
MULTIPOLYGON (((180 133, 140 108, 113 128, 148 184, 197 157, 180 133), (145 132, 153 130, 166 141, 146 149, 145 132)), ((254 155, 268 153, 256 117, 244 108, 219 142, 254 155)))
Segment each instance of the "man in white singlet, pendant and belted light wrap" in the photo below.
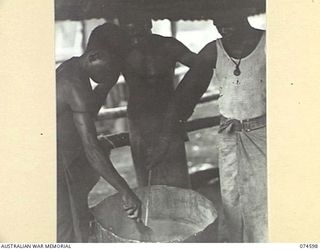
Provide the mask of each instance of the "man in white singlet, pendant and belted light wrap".
POLYGON ((200 55, 220 86, 219 173, 228 241, 267 241, 265 32, 240 12, 214 19, 200 55))

